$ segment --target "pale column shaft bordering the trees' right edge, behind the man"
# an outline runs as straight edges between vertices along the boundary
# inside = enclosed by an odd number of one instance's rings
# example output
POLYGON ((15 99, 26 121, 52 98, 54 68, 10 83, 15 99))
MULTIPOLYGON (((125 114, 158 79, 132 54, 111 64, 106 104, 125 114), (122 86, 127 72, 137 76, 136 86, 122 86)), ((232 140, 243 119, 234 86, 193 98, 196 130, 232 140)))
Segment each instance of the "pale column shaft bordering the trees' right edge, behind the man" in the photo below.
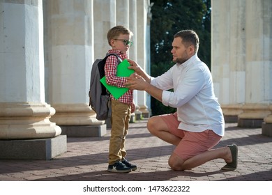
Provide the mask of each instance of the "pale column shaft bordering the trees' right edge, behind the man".
POLYGON ((229 1, 211 2, 213 84, 220 104, 229 104, 229 1))

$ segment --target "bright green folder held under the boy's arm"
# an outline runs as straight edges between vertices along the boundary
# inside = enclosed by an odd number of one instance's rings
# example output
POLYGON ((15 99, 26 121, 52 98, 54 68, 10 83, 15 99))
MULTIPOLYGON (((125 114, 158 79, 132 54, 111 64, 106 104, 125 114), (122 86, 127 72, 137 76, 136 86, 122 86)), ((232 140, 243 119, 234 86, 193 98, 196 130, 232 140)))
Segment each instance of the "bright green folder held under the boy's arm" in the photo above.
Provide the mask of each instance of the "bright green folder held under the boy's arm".
MULTIPOLYGON (((129 77, 133 72, 135 72, 132 69, 128 69, 128 66, 130 66, 130 63, 125 59, 119 65, 117 66, 117 77, 129 77)), ((106 77, 103 77, 100 79, 100 82, 107 88, 109 93, 112 93, 113 97, 117 100, 120 98, 124 93, 128 91, 128 88, 119 88, 118 86, 110 86, 106 82, 106 77)))

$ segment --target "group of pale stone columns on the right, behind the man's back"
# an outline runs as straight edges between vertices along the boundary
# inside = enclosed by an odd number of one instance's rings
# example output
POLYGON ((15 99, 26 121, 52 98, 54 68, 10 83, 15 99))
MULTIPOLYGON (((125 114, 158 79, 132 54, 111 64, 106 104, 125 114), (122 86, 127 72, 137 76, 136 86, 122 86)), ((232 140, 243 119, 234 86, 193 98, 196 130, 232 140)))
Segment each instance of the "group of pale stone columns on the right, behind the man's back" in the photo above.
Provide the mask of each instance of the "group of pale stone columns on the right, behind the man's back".
POLYGON ((211 72, 226 122, 259 127, 272 99, 271 3, 217 0, 212 7, 211 72))

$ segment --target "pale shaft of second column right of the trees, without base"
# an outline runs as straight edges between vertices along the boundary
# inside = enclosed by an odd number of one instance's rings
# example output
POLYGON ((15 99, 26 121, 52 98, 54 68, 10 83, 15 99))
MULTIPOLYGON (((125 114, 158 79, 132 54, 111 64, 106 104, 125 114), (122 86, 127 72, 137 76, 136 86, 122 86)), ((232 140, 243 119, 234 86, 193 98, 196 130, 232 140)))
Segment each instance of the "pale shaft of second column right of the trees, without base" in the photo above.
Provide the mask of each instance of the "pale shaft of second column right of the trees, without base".
POLYGON ((229 8, 229 103, 238 107, 245 102, 245 1, 230 1, 229 8))

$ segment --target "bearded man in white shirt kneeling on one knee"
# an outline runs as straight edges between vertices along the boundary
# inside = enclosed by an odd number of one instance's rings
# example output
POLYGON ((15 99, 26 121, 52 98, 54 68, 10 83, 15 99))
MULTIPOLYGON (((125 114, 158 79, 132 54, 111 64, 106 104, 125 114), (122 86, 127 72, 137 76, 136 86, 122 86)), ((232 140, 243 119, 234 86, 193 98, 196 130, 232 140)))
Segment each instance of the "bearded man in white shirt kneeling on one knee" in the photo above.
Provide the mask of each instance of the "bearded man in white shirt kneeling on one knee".
POLYGON ((179 31, 174 35, 171 51, 176 64, 153 78, 129 60, 136 73, 126 85, 146 91, 165 106, 177 109, 174 114, 153 116, 147 123, 151 134, 176 146, 168 161, 172 170, 192 169, 218 158, 227 163, 223 170, 235 170, 238 154, 235 144, 211 149, 224 135, 225 122, 213 92, 211 72, 197 57, 198 47, 195 31, 179 31), (171 88, 174 92, 167 91, 171 88))

